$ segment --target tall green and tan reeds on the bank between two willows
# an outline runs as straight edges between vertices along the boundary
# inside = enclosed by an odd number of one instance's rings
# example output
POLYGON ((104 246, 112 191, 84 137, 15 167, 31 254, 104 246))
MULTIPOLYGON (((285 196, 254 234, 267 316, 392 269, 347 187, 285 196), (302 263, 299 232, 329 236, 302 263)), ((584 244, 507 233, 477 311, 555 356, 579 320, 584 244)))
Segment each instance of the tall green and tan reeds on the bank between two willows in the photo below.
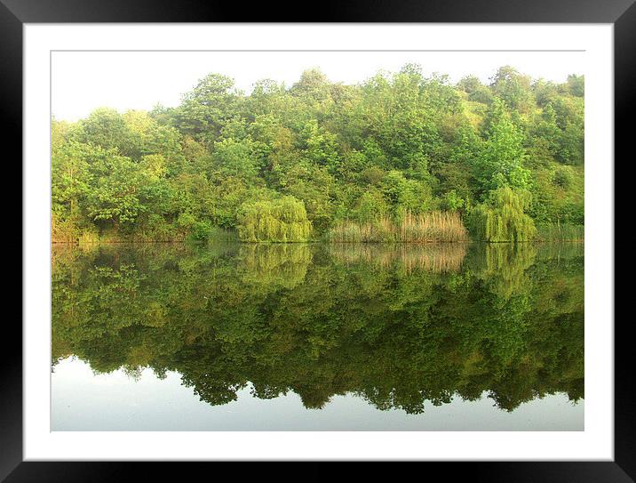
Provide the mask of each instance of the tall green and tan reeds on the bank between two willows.
POLYGON ((401 221, 388 217, 366 223, 342 221, 327 233, 330 243, 429 243, 468 241, 457 212, 405 213, 401 221))

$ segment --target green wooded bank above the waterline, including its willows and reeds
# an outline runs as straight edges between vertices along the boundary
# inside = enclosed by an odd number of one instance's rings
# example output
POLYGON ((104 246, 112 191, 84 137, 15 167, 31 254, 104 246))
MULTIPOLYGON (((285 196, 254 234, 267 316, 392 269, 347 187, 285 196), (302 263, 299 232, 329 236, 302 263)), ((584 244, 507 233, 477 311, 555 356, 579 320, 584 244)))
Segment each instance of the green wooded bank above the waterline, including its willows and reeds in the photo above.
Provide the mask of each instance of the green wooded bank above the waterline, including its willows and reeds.
POLYGON ((53 241, 521 241, 583 224, 583 76, 453 85, 406 65, 343 85, 314 69, 246 94, 211 74, 176 108, 52 120, 53 241))

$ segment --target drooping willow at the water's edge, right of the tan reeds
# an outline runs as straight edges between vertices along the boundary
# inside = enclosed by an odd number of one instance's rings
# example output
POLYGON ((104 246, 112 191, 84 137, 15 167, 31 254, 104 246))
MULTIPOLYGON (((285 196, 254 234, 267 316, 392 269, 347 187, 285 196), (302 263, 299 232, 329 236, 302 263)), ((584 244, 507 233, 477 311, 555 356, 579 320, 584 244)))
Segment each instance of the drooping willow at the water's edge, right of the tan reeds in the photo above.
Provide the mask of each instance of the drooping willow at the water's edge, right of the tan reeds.
POLYGON ((489 242, 524 242, 537 234, 535 222, 524 209, 528 208, 528 191, 514 191, 508 186, 489 193, 487 200, 477 205, 470 215, 473 238, 489 242))

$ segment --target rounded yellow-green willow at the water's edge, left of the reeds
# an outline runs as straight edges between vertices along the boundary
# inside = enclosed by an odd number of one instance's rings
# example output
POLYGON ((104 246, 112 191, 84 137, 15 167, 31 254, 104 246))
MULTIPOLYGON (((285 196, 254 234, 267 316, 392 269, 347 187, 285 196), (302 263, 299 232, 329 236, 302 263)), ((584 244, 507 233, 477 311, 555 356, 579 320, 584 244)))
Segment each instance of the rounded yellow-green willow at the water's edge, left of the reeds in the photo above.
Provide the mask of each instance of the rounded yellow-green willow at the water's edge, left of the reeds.
POLYGON ((282 197, 242 205, 238 234, 247 242, 304 242, 312 232, 305 204, 282 197))

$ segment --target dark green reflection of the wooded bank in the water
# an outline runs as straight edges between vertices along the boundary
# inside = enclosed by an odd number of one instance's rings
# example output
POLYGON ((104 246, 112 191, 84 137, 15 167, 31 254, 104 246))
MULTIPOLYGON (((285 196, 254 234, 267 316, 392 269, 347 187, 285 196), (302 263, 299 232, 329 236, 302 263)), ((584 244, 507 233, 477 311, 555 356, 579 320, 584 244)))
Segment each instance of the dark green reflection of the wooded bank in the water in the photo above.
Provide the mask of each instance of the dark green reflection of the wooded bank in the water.
POLYGON ((211 404, 248 386, 314 408, 354 392, 408 413, 484 391, 506 410, 583 397, 582 246, 440 249, 437 263, 413 249, 62 250, 53 358, 178 371, 211 404))

